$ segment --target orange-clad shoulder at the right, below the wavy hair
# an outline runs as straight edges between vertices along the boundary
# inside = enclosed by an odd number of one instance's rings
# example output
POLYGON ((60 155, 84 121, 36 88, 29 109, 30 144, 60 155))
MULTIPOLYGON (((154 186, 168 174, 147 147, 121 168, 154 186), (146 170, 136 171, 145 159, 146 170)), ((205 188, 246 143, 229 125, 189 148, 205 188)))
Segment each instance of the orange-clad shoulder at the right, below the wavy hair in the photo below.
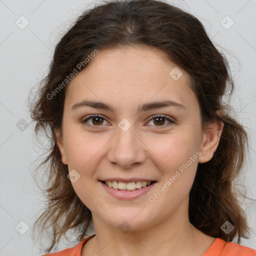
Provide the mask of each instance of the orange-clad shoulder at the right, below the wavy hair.
POLYGON ((203 256, 256 256, 256 250, 216 238, 203 256))

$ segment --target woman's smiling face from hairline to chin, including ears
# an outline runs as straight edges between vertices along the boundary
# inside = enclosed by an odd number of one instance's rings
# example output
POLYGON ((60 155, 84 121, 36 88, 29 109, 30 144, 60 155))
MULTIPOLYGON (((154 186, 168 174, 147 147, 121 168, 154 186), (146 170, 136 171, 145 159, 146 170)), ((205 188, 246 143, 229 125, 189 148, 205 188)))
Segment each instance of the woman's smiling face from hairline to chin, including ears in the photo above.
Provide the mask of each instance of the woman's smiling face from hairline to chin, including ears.
POLYGON ((197 164, 212 157, 219 137, 201 130, 189 75, 150 47, 99 50, 91 61, 68 85, 57 132, 76 194, 93 219, 116 228, 187 215, 197 164), (139 181, 154 182, 135 188, 139 181))

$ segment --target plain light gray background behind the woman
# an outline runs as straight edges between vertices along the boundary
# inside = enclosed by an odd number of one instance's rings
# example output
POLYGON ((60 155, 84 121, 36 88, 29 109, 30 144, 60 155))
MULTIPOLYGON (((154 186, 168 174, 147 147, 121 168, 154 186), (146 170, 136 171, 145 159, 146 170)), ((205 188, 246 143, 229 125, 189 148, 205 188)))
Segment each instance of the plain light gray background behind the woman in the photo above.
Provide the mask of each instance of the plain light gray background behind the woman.
MULTIPOLYGON (((236 83, 231 103, 237 120, 251 136, 249 159, 240 181, 247 186, 247 195, 256 199, 256 0, 169 2, 199 18, 230 63, 236 83), (230 26, 232 20, 234 24, 230 26)), ((28 91, 46 75, 57 40, 90 6, 93 2, 86 0, 0 0, 1 256, 40 255, 38 247, 42 242, 33 242, 30 232, 44 204, 31 172, 32 163, 42 151, 33 138, 33 124, 26 108, 28 91), (22 27, 26 22, 29 24, 22 27), (25 123, 29 125, 22 126, 25 123), (29 228, 24 232, 26 225, 29 228)), ((242 205, 252 229, 250 238, 242 239, 242 244, 256 248, 256 203, 246 201, 242 205)), ((75 241, 61 243, 58 250, 74 244, 75 241)))

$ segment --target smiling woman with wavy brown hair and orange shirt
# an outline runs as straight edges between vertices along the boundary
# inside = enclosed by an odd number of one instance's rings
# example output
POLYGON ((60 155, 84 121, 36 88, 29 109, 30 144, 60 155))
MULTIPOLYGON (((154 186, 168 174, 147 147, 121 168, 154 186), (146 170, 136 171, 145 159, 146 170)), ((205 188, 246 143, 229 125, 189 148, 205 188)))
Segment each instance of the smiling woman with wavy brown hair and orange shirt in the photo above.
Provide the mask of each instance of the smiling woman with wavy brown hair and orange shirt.
POLYGON ((45 255, 255 255, 233 189, 247 134, 222 96, 228 63, 193 15, 156 0, 85 11, 31 104, 50 128, 45 255), (88 235, 90 221, 94 234, 88 235))

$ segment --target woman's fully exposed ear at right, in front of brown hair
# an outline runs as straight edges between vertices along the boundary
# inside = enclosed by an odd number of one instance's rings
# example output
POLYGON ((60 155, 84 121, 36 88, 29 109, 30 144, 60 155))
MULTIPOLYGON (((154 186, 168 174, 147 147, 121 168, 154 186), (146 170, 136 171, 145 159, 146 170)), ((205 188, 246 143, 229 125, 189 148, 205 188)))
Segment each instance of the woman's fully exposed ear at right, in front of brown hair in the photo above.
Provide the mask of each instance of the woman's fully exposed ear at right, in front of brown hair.
POLYGON ((203 163, 209 161, 216 151, 219 139, 223 130, 223 122, 216 120, 213 124, 208 126, 202 135, 200 156, 198 162, 203 163))

